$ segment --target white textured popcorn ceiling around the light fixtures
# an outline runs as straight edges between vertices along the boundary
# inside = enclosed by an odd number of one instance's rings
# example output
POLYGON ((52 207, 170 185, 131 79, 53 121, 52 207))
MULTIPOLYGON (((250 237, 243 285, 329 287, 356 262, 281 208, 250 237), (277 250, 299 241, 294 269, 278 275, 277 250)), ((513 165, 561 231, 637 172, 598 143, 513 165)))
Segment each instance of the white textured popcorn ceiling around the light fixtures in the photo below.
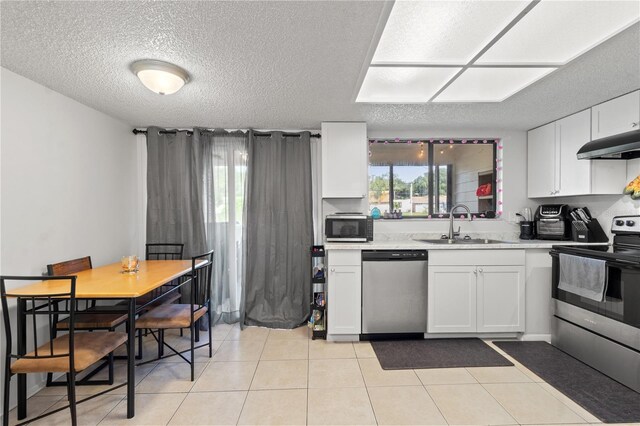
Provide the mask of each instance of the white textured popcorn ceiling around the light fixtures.
POLYGON ((528 129, 640 87, 640 24, 501 103, 356 104, 388 13, 380 1, 2 1, 3 67, 132 126, 528 129), (374 46, 375 47, 375 46, 374 46), (161 59, 175 95, 129 71, 161 59))

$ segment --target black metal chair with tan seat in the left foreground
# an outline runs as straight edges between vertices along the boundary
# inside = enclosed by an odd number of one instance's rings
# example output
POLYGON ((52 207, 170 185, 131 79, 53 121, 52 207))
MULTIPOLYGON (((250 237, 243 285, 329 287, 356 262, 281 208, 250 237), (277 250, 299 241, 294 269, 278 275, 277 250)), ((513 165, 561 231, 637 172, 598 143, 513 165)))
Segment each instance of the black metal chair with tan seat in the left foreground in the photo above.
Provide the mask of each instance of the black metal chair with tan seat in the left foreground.
MULTIPOLYGON (((49 416, 51 414, 69 408, 72 425, 77 424, 76 404, 92 399, 98 395, 110 392, 124 385, 114 386, 99 394, 92 395, 80 401, 76 401, 76 374, 100 361, 109 353, 112 353, 120 345, 127 341, 127 334, 121 332, 92 332, 76 333, 76 277, 74 276, 0 276, 0 297, 2 301, 2 318, 4 333, 7 342, 4 365, 4 401, 3 424, 9 424, 9 390, 11 377, 15 374, 27 373, 65 373, 67 376, 67 396, 69 404, 46 414, 29 419, 28 422, 49 416), (17 308, 17 350, 13 349, 11 334, 11 320, 9 305, 7 303, 6 281, 44 281, 46 287, 34 289, 33 294, 20 294, 17 308), (60 299, 66 299, 69 303, 59 303, 60 299), (65 306, 68 309, 61 309, 65 306), (69 315, 68 334, 60 337, 49 337, 49 341, 42 344, 38 342, 37 317, 48 319, 48 331, 53 329, 55 315, 69 315), (28 327, 28 319, 31 318, 31 327, 28 327), (27 330, 32 334, 33 350, 27 353, 27 330), (12 360, 15 360, 12 362, 12 360)), ((41 333, 42 334, 42 333, 41 333)), ((26 401, 24 401, 26 404, 26 401)), ((26 424, 22 422, 20 424, 26 424)))

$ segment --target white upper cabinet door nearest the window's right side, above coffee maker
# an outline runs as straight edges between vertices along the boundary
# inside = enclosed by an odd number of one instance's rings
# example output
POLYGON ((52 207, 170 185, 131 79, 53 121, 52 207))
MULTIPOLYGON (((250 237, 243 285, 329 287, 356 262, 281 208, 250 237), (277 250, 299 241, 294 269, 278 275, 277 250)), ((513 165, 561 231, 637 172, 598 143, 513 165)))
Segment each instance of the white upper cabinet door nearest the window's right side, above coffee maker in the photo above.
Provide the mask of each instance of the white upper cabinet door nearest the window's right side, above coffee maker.
POLYGON ((527 134, 527 193, 529 198, 550 197, 556 188, 556 123, 527 134))

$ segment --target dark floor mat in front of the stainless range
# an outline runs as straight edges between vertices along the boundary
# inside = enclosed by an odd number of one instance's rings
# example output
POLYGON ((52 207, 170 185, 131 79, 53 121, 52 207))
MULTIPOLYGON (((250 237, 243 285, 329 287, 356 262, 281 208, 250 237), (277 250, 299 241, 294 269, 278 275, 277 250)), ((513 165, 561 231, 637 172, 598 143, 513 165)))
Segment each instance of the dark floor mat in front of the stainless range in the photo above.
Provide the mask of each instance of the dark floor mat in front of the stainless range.
POLYGON ((493 343, 602 422, 640 422, 640 393, 560 349, 546 342, 493 343))

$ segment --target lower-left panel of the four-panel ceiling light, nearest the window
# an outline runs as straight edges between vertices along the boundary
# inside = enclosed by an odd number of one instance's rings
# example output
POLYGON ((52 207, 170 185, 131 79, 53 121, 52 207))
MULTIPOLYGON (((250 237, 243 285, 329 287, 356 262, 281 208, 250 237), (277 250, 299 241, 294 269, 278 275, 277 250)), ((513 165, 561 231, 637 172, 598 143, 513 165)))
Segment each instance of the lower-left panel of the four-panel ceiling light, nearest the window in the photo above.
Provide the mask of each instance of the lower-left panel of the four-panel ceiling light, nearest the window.
POLYGON ((427 102, 460 68, 370 67, 356 102, 427 102))

